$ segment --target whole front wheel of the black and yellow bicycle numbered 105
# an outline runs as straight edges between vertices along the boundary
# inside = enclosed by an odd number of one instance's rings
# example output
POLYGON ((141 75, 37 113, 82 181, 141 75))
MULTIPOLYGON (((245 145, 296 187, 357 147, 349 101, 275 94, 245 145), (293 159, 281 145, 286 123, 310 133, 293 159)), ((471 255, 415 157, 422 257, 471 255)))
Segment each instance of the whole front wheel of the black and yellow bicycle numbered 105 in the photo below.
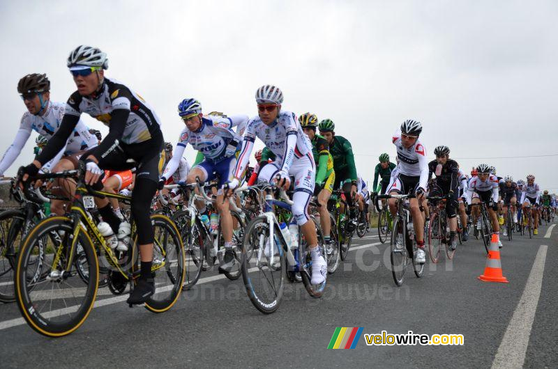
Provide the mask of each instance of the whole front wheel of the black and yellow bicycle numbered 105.
POLYGON ((82 267, 86 267, 89 276, 85 286, 75 267, 67 265, 72 230, 73 222, 68 217, 43 219, 33 227, 20 248, 15 272, 17 306, 29 326, 45 336, 60 337, 75 331, 91 312, 97 295, 98 259, 93 242, 82 227, 77 242, 84 250, 82 267), (63 237, 50 237, 50 233, 62 233, 63 237), (45 241, 47 244, 41 245, 45 241), (46 275, 38 273, 36 267, 42 247, 46 275), (52 265, 59 250, 59 263, 52 265))

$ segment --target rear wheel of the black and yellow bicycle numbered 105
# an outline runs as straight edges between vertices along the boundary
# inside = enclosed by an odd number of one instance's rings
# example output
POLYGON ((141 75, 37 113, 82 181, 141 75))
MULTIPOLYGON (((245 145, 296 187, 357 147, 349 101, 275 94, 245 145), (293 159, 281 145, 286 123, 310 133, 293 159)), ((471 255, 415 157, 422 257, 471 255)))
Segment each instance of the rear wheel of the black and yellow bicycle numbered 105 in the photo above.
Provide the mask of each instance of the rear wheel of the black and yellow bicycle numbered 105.
MULTIPOLYGON (((153 266, 151 273, 155 281, 156 290, 153 296, 145 303, 145 308, 153 313, 163 313, 178 301, 184 276, 186 274, 184 246, 176 224, 163 214, 151 214, 153 224, 153 266)), ((140 272, 141 258, 134 237, 132 260, 138 260, 132 264, 132 272, 137 275, 140 272)), ((134 280, 134 283, 137 279, 134 280)), ((131 291, 130 291, 131 293, 131 291)))

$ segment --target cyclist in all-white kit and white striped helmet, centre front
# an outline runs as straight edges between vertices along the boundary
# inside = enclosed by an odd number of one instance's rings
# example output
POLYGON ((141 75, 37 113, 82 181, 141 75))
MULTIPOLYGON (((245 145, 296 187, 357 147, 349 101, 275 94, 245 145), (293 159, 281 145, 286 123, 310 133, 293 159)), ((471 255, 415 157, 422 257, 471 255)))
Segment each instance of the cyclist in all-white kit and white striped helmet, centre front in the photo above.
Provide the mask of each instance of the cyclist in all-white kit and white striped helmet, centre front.
POLYGON ((258 137, 276 155, 275 161, 260 169, 259 179, 288 189, 291 183, 289 175, 294 176, 292 213, 309 245, 312 258, 310 282, 320 284, 326 280, 326 260, 319 251, 316 229, 308 215, 308 203, 314 193, 316 175, 312 144, 302 131, 294 113, 281 110, 282 102, 283 94, 278 87, 265 85, 257 89, 256 103, 259 115, 248 120, 241 155, 229 187, 234 189, 239 185, 254 141, 258 137))

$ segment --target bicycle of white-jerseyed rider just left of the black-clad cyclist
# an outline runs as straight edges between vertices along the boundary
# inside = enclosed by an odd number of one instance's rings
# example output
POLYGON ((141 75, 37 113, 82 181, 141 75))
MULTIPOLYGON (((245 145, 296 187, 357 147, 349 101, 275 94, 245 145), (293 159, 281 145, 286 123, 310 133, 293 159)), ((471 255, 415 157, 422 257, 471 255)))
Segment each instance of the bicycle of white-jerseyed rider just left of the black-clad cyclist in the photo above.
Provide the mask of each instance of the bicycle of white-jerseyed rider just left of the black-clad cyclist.
POLYGON ((414 274, 417 278, 421 278, 424 274, 424 263, 416 262, 415 258, 418 248, 414 239, 414 227, 409 207, 409 199, 414 197, 414 194, 377 196, 377 198, 395 198, 398 200, 390 243, 391 274, 395 285, 398 287, 405 280, 405 270, 409 265, 409 260, 412 262, 414 274))

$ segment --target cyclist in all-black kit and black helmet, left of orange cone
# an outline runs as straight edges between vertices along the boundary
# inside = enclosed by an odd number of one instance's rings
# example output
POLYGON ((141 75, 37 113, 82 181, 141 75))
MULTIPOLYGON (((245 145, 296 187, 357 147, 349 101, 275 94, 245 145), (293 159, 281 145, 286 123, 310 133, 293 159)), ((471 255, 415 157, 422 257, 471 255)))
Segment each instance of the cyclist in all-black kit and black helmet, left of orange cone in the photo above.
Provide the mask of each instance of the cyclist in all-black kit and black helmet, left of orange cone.
MULTIPOLYGON (((455 240, 455 230, 458 227, 457 214, 459 196, 459 164, 449 158, 449 148, 447 146, 437 146, 434 149, 436 159, 428 163, 428 178, 432 178, 432 173, 436 175, 435 185, 442 191, 442 196, 449 195, 451 198, 446 201, 446 214, 449 223, 449 242, 452 250, 457 247, 455 240)), ((432 191, 432 189, 430 189, 432 191)), ((463 233, 467 233, 464 228, 463 233)))

